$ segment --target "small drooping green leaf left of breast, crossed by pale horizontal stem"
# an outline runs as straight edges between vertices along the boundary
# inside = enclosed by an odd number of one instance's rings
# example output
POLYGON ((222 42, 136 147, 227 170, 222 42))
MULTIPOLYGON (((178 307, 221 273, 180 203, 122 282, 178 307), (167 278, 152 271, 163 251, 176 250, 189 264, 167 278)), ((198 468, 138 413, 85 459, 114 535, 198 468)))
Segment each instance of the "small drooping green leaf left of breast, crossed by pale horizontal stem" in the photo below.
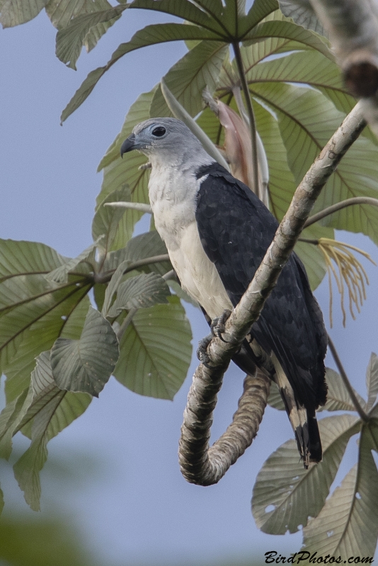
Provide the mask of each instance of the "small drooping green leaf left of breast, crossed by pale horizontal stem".
MULTIPOLYGON (((130 200, 130 189, 121 186, 110 192, 96 209, 92 222, 92 237, 94 241, 98 241, 101 236, 105 238, 99 241, 98 247, 103 253, 108 253, 112 249, 113 242, 123 238, 123 225, 119 229, 119 224, 125 214, 125 209, 118 207, 104 207, 105 202, 119 202, 130 200), (122 235, 118 235, 118 231, 122 231, 122 235)), ((117 248, 116 248, 117 249, 117 248)))

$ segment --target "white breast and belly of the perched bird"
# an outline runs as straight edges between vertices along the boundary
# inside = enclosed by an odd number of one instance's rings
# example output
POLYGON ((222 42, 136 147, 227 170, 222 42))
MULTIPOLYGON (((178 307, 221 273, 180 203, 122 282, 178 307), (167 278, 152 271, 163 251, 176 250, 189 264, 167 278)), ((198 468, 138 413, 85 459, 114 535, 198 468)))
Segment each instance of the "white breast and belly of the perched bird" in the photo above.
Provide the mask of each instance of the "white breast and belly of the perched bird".
POLYGON ((207 258, 195 221, 199 182, 194 175, 153 168, 149 197, 156 230, 185 291, 214 318, 232 308, 214 264, 207 258))

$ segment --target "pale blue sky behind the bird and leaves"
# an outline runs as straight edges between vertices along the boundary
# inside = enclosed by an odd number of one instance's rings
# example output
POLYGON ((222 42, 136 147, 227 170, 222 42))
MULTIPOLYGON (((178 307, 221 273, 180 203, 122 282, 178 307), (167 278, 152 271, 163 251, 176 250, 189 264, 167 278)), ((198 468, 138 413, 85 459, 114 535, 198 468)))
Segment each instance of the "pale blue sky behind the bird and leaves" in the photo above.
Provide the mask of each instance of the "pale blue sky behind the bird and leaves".
MULTIPOLYGON (((101 187, 98 162, 132 102, 159 81, 184 54, 185 46, 161 45, 127 55, 63 127, 60 112, 88 71, 104 64, 120 42, 137 28, 167 19, 157 13, 127 11, 91 54, 82 54, 76 72, 55 57, 55 30, 45 13, 28 24, 0 31, 1 238, 41 241, 71 257, 91 243, 93 207, 101 187)), ((364 236, 339 234, 338 239, 355 243, 378 260, 377 248, 364 236)), ((377 267, 364 265, 371 284, 362 313, 356 321, 348 316, 343 329, 335 294, 331 330, 345 369, 363 396, 370 353, 378 351, 377 267)), ((323 282, 316 296, 326 316, 328 284, 323 282)), ((207 334, 207 325, 195 308, 188 307, 188 316, 196 345, 207 334)), ((282 412, 266 410, 257 439, 218 485, 196 487, 181 477, 178 437, 195 365, 193 359, 173 403, 142 398, 110 379, 100 398, 49 445, 50 456, 67 455, 66 465, 74 471, 70 483, 59 477, 52 481, 42 473, 42 512, 56 506, 70 513, 106 564, 196 565, 229 556, 262 562, 268 550, 286 555, 299 550, 300 533, 282 537, 260 533, 250 512, 258 470, 277 446, 292 437, 282 412)), ((229 370, 215 413, 214 439, 231 420, 242 379, 235 367, 229 370)), ((353 454, 355 441, 348 448, 344 473, 353 454)), ((26 507, 14 481, 5 478, 1 484, 9 508, 26 507)))

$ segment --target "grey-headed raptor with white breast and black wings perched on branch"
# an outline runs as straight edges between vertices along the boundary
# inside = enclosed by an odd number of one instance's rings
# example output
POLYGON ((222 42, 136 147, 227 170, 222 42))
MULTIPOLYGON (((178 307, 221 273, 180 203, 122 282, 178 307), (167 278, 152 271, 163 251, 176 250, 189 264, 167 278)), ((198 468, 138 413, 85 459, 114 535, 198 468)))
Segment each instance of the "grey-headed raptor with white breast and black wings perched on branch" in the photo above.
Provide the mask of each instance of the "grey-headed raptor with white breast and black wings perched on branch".
MULTIPOLYGON (((121 156, 134 149, 149 158, 154 224, 181 287, 207 320, 222 328, 278 222, 249 187, 207 154, 181 120, 141 122, 123 141, 121 156)), ((322 458, 315 412, 326 403, 326 347, 321 309, 293 252, 233 361, 252 376, 257 366, 275 381, 305 468, 322 458)))

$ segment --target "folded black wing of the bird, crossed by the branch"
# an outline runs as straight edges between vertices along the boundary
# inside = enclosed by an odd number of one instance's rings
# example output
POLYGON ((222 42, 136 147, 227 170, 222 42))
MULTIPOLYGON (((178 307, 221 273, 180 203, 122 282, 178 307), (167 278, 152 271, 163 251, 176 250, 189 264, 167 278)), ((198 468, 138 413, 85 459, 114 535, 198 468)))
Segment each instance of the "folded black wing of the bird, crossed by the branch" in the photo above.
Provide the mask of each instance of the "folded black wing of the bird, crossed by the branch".
MULTIPOLYGON (((205 175, 197 196, 200 240, 235 306, 263 260, 278 224, 258 197, 222 166, 214 163, 200 168, 197 178, 205 175)), ((251 335, 265 352, 274 352, 301 405, 314 413, 325 403, 326 331, 304 266, 294 253, 253 324, 251 335)))

